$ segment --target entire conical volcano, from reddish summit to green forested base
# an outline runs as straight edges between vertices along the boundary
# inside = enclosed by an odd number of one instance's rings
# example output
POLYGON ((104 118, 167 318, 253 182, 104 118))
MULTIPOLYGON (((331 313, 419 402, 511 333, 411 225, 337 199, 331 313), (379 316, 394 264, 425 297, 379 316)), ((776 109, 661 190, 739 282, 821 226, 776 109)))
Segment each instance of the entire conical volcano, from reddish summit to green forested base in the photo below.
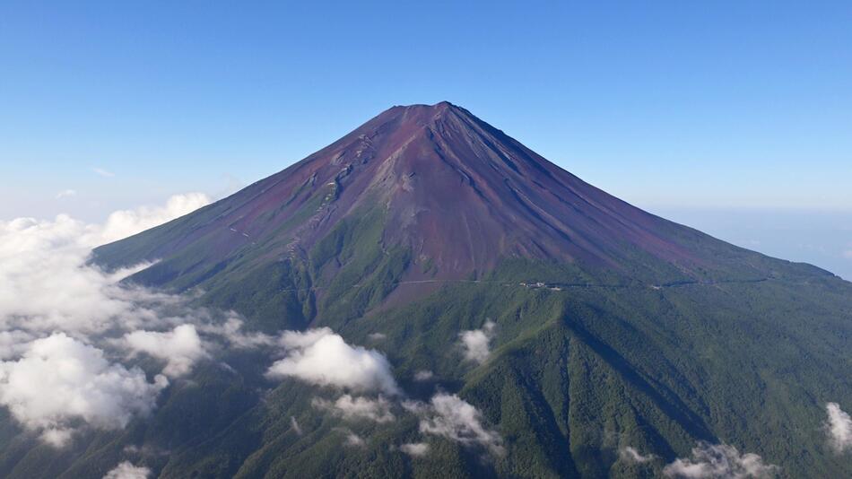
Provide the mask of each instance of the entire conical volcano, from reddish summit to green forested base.
POLYGON ((91 475, 141 442, 170 451, 145 457, 161 477, 651 477, 697 444, 852 476, 822 428, 826 403, 852 409, 852 283, 628 205, 447 102, 387 109, 92 261, 153 262, 126 282, 258 332, 376 348, 409 399, 473 405, 500 453, 434 435, 405 454, 423 426, 402 409, 342 447, 356 426, 317 408, 328 388, 270 383, 268 362, 229 351, 229 370, 209 361, 74 453, 0 443, 5 475, 91 475), (465 360, 465 331, 491 345, 483 361, 465 360))

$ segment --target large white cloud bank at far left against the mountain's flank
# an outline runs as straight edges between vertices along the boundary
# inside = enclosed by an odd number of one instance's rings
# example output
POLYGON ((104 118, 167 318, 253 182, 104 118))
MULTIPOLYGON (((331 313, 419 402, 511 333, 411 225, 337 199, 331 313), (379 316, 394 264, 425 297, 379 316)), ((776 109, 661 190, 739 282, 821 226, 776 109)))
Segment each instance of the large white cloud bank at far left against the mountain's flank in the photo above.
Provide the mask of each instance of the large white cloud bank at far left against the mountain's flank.
POLYGON ((86 261, 95 246, 207 203, 200 194, 173 196, 161 208, 113 213, 103 225, 65 214, 0 222, 0 405, 24 429, 61 447, 80 427, 122 428, 151 411, 168 380, 158 375, 149 383, 142 370, 109 359, 110 332, 130 333, 135 349, 166 361, 166 374, 177 376, 197 359, 186 327, 133 335, 143 325, 195 320, 161 312, 181 301, 175 297, 119 285, 143 266, 106 273, 86 261), (152 337, 166 341, 145 344, 152 337))

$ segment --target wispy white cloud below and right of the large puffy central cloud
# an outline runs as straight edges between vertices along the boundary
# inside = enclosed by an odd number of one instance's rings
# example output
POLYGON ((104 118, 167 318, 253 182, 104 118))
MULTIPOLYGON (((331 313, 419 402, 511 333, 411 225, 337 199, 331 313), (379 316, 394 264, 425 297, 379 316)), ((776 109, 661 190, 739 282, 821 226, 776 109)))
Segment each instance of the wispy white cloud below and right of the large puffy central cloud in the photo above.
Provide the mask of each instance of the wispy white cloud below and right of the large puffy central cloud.
POLYGON ((429 416, 420 422, 420 431, 465 445, 480 445, 496 456, 505 452, 500 434, 485 428, 482 414, 456 395, 441 393, 432 396, 429 416))

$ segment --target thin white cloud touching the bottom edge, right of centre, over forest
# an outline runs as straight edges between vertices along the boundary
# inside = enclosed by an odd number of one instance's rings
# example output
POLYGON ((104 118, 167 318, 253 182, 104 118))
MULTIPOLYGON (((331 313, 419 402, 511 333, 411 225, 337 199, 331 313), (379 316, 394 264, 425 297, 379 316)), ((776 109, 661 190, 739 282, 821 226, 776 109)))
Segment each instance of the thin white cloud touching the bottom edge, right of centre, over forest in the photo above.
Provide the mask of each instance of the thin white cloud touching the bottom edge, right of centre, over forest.
POLYGON ((687 479, 745 479, 778 475, 780 468, 764 464, 757 454, 740 454, 734 446, 699 442, 692 457, 678 458, 663 468, 667 477, 687 479))

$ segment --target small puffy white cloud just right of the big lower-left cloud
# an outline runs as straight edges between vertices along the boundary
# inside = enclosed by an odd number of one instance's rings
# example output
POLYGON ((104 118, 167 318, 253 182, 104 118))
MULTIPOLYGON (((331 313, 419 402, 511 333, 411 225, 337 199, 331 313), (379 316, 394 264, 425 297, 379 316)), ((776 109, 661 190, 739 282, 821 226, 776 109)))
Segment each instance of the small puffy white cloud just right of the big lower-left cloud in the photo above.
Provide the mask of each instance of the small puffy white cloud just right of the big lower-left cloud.
POLYGON ((196 361, 207 357, 204 344, 193 325, 180 325, 171 331, 134 331, 124 337, 133 353, 147 353, 166 361, 163 374, 177 378, 189 373, 196 361))

